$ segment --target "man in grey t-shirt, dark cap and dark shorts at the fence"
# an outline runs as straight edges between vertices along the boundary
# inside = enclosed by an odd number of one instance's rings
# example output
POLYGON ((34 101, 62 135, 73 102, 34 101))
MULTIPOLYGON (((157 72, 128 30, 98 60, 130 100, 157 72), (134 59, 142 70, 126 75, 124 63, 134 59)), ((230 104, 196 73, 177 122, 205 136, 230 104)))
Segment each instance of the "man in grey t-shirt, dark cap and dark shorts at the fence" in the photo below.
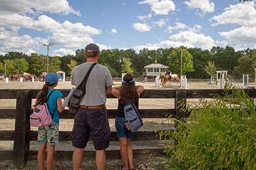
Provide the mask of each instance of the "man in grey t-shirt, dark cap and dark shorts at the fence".
MULTIPOLYGON (((89 44, 85 49, 87 62, 73 68, 72 85, 78 85, 84 79, 87 71, 94 62, 99 60, 99 47, 89 44)), ((95 65, 87 80, 86 94, 81 99, 79 109, 75 116, 72 145, 73 168, 78 170, 83 162, 83 152, 87 145, 90 132, 92 132, 93 145, 96 150, 96 166, 98 169, 106 169, 105 149, 109 147, 110 127, 108 111, 105 107, 106 94, 111 94, 113 80, 110 71, 104 65, 95 65)))

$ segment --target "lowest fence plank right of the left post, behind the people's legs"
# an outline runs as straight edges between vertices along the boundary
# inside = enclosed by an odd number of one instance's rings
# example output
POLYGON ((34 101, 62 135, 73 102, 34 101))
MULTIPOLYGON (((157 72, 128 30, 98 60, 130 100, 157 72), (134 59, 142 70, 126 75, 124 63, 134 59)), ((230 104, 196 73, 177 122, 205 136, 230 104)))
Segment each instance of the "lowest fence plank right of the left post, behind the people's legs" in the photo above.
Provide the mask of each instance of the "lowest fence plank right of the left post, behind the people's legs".
MULTIPOLYGON (((133 159, 140 159, 141 157, 149 157, 150 154, 156 154, 158 156, 166 156, 163 152, 164 148, 152 148, 152 149, 133 149, 133 159)), ((38 151, 28 151, 27 160, 36 161, 38 151)), ((71 161, 73 151, 55 151, 54 160, 58 161, 71 161)), ((47 153, 44 155, 46 159, 47 153)), ((106 150, 106 159, 121 159, 120 150, 106 150)), ((95 160, 95 151, 84 151, 83 160, 95 160)))

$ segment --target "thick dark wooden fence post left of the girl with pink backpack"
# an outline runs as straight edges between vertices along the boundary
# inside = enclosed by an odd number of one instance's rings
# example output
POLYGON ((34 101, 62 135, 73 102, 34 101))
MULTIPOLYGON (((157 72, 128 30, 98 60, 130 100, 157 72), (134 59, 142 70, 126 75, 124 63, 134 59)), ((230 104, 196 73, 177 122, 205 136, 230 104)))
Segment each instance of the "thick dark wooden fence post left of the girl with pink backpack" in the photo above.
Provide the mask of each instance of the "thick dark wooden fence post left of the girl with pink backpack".
POLYGON ((29 149, 29 110, 31 90, 19 90, 16 97, 15 136, 13 144, 13 168, 24 168, 29 149))

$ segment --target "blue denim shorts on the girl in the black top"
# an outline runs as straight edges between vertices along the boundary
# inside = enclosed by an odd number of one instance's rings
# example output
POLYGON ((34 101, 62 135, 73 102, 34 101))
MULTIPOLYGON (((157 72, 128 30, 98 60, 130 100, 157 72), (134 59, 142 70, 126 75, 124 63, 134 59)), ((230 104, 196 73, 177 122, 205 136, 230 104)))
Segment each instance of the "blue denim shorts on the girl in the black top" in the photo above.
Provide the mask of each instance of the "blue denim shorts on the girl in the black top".
POLYGON ((117 137, 126 137, 127 139, 133 139, 134 133, 127 130, 124 126, 126 120, 123 117, 115 117, 115 128, 117 137))

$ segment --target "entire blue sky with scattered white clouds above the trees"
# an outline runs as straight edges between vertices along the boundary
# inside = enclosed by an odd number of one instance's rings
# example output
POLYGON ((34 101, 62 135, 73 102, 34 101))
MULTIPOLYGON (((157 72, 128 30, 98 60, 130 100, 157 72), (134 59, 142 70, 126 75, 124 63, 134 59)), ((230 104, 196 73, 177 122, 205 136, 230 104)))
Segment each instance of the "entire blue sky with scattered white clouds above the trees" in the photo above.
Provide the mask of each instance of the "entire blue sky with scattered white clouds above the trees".
POLYGON ((256 48, 256 1, 0 0, 0 54, 75 54, 93 42, 140 51, 213 46, 256 48))

